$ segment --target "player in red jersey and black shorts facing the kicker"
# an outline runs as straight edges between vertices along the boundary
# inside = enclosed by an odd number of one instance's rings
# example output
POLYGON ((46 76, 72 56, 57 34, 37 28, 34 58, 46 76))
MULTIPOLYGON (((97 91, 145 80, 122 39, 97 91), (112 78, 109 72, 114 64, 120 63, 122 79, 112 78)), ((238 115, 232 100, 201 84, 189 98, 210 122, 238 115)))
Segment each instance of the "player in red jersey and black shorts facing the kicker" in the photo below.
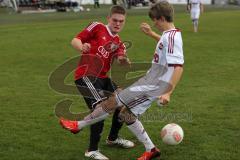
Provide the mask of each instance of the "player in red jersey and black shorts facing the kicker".
MULTIPOLYGON (((123 65, 130 63, 126 58, 125 46, 118 35, 124 27, 125 17, 126 11, 123 7, 113 6, 107 17, 107 25, 93 22, 71 42, 73 48, 81 54, 81 59, 75 70, 75 83, 91 111, 94 111, 97 103, 109 96, 104 94, 104 91, 114 92, 118 88, 107 76, 112 61, 117 59, 123 65)), ((118 115, 119 110, 116 110, 106 143, 131 148, 134 146, 131 141, 118 137, 118 132, 123 124, 119 121, 118 115)), ((98 150, 103 126, 104 121, 90 126, 90 144, 85 152, 86 157, 98 160, 108 159, 98 150)))

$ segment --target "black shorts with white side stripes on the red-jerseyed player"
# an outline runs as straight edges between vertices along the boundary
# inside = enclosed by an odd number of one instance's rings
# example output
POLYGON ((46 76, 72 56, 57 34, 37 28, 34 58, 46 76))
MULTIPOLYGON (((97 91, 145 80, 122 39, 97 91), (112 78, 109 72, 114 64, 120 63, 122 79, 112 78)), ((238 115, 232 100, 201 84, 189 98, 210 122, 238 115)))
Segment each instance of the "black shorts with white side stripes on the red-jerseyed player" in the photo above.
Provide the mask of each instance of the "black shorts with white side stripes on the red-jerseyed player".
POLYGON ((94 109, 96 104, 107 99, 118 88, 110 78, 97 78, 85 76, 75 81, 89 109, 94 109))

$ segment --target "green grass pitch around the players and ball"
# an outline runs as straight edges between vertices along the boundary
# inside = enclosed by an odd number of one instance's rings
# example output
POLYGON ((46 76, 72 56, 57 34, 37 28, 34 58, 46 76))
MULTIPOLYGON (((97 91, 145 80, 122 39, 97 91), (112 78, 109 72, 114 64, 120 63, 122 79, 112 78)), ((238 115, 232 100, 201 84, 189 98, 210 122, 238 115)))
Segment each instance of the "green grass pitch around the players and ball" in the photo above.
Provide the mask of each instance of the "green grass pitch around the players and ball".
MULTIPOLYGON (((129 11, 123 40, 133 42, 132 61, 151 61, 156 42, 139 30, 151 23, 147 10, 129 11)), ((50 73, 77 53, 70 41, 91 21, 105 21, 106 10, 89 13, 16 15, 0 13, 0 159, 83 160, 88 129, 72 135, 58 124, 57 102, 74 100, 71 110, 85 111, 81 98, 49 88, 50 73), (101 16, 102 18, 98 18, 101 16)), ((166 108, 153 104, 142 117, 145 129, 162 150, 163 160, 240 159, 240 10, 209 8, 192 32, 189 15, 177 7, 175 25, 182 29, 185 71, 166 108), (161 128, 178 123, 183 142, 167 146, 161 128)), ((73 83, 71 76, 68 83, 73 83)), ((112 160, 133 160, 144 147, 124 126, 121 136, 137 143, 133 149, 105 145, 110 118, 100 143, 112 160)))

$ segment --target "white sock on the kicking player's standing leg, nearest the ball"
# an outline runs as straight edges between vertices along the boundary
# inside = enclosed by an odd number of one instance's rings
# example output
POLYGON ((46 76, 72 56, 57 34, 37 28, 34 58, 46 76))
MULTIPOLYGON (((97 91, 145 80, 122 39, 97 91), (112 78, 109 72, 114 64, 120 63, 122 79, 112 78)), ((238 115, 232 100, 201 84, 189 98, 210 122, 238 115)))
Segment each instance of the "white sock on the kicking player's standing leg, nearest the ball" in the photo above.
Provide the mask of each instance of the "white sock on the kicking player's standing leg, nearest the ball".
POLYGON ((138 140, 144 144, 146 151, 151 151, 151 149, 155 147, 147 132, 145 131, 142 123, 138 119, 127 127, 138 138, 138 140))

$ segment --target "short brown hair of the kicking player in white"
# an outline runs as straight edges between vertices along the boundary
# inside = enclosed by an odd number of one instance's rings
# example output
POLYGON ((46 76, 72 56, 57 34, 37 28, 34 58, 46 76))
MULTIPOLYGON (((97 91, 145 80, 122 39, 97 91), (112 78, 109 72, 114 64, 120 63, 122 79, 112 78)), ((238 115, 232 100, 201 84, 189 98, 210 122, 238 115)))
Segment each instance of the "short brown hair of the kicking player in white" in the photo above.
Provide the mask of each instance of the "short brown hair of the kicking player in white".
POLYGON ((150 8, 148 15, 152 20, 164 17, 167 22, 173 22, 174 9, 167 1, 161 1, 150 8))

